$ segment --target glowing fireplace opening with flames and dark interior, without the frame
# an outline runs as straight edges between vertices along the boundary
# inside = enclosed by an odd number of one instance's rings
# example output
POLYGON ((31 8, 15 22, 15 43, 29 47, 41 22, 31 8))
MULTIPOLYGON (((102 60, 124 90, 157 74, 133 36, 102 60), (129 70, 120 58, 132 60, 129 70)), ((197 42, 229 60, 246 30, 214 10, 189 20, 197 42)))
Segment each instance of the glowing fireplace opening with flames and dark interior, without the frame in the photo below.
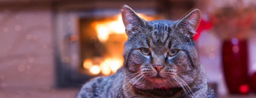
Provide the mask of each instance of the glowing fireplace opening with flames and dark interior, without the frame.
MULTIPOLYGON (((160 16, 138 14, 146 21, 160 16)), ((97 16, 79 19, 80 55, 79 71, 90 76, 108 76, 123 64, 122 52, 128 39, 122 16, 97 16)))

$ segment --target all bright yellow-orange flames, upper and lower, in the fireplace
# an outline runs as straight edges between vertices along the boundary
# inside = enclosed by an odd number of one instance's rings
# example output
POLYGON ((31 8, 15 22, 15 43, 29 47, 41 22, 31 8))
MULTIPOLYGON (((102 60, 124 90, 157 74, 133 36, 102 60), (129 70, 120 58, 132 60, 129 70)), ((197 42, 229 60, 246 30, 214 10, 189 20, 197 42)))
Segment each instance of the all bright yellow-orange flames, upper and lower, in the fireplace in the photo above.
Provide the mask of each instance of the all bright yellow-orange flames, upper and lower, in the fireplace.
MULTIPOLYGON (((146 21, 151 21, 154 18, 150 16, 146 16, 144 14, 138 14, 141 18, 146 21)), ((93 27, 97 32, 97 38, 100 42, 108 41, 109 35, 112 34, 125 34, 125 27, 122 22, 121 14, 115 16, 116 19, 102 21, 102 22, 93 22, 93 27)), ((89 69, 90 73, 94 75, 98 75, 102 73, 107 76, 112 73, 116 73, 116 71, 122 66, 123 60, 121 58, 106 58, 102 62, 96 62, 99 65, 94 64, 92 60, 84 60, 83 67, 85 69, 89 69)))

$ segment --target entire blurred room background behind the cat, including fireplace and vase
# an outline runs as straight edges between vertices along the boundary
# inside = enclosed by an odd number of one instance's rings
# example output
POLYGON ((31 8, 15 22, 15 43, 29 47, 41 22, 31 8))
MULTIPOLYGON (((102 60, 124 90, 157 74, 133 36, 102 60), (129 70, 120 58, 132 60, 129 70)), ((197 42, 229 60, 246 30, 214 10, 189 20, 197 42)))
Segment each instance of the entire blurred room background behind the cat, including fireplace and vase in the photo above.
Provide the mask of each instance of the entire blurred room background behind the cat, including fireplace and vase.
POLYGON ((255 0, 0 0, 0 98, 75 98, 115 73, 124 4, 147 21, 199 8, 194 39, 210 86, 221 98, 256 97, 255 0))

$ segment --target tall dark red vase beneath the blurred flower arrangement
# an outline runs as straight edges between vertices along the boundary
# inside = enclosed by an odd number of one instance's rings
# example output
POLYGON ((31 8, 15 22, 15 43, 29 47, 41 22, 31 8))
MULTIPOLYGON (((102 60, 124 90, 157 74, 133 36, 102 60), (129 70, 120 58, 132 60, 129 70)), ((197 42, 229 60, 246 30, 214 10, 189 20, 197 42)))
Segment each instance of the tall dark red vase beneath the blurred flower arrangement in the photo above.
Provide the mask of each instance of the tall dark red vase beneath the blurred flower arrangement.
POLYGON ((222 46, 222 64, 229 93, 249 93, 247 41, 236 38, 224 41, 222 46))

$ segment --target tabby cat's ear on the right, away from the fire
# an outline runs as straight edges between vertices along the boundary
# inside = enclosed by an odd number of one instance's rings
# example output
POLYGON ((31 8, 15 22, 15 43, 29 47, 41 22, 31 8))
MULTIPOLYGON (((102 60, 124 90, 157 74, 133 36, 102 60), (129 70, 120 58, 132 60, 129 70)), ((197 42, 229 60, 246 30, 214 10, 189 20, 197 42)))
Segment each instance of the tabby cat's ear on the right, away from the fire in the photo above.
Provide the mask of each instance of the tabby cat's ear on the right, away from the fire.
POLYGON ((196 34, 195 30, 198 28, 200 20, 201 11, 199 9, 195 9, 178 21, 176 27, 181 29, 186 36, 191 38, 196 34))

